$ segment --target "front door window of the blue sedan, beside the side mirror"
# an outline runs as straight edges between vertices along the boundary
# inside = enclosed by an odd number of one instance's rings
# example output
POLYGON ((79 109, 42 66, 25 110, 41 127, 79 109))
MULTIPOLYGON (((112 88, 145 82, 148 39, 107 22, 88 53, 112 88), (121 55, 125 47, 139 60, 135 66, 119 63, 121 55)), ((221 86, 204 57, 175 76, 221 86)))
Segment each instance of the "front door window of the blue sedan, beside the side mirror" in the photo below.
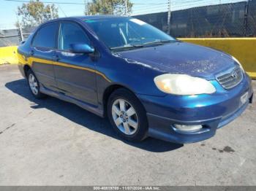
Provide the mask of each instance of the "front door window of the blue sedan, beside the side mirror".
POLYGON ((88 36, 76 23, 61 23, 59 50, 70 50, 70 44, 90 44, 88 36))

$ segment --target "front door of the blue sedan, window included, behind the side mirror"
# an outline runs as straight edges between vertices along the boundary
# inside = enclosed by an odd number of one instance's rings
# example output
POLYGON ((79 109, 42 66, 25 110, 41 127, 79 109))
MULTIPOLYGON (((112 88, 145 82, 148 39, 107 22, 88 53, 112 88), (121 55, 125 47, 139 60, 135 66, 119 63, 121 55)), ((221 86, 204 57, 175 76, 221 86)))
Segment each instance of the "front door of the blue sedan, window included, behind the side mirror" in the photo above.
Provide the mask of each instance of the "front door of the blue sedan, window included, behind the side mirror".
POLYGON ((91 44, 84 29, 75 22, 61 22, 59 45, 56 50, 54 71, 62 93, 80 101, 97 105, 95 62, 89 54, 70 52, 70 44, 91 44))

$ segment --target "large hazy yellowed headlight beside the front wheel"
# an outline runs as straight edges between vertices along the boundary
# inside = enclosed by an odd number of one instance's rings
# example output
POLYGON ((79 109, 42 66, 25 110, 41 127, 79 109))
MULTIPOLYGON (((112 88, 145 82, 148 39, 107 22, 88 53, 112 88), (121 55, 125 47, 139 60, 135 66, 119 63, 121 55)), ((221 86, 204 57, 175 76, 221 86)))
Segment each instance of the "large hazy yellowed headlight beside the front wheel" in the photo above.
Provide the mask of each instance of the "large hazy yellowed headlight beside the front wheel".
POLYGON ((206 79, 186 74, 162 74, 154 78, 154 83, 162 92, 176 95, 210 94, 216 91, 206 79))

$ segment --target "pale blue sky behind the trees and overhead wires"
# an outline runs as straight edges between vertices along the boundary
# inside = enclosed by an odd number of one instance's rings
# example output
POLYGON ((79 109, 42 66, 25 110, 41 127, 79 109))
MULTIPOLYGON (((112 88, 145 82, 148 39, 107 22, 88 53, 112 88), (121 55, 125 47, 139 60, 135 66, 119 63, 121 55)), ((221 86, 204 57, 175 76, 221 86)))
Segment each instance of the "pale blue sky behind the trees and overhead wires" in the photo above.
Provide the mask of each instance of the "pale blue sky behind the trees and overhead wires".
MULTIPOLYGON (((56 4, 59 7, 59 17, 69 17, 84 15, 84 5, 86 0, 40 0, 53 1, 56 3, 81 3, 81 4, 56 4)), ((90 0, 87 0, 90 1, 90 0)), ((169 0, 130 0, 134 5, 131 15, 143 15, 153 12, 166 12, 168 9, 167 2, 169 0)), ((178 9, 187 9, 190 7, 199 7, 211 4, 223 4, 230 2, 238 2, 244 0, 170 0, 172 11, 178 9)), ((17 7, 22 2, 0 0, 0 29, 15 28, 17 22, 17 7)))

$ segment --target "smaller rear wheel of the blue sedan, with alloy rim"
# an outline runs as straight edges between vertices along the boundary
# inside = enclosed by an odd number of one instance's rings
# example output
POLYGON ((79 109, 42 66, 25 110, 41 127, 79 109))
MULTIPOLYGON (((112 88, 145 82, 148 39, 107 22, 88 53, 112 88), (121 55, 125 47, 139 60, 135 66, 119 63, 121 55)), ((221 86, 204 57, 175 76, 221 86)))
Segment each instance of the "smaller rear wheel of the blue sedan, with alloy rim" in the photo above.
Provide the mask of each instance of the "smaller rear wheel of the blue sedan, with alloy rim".
POLYGON ((37 80, 37 77, 34 75, 34 72, 31 71, 31 69, 29 69, 26 72, 26 76, 29 84, 29 90, 31 91, 32 95, 34 95, 34 97, 37 99, 45 98, 46 95, 40 93, 39 81, 37 80))

